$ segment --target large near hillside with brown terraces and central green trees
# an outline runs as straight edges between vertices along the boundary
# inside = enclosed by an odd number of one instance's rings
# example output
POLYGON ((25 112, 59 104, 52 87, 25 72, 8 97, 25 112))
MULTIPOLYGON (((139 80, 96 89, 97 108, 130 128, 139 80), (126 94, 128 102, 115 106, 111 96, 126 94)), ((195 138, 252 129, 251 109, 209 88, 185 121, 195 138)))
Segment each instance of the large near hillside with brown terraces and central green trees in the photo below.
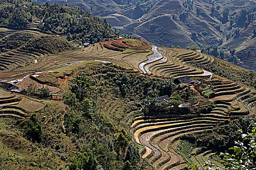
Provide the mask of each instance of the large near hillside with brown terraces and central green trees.
POLYGON ((15 82, 29 95, 0 89, 1 167, 186 169, 224 151, 234 131, 254 121, 256 73, 211 55, 135 39, 76 49, 49 35, 31 43, 31 51, 15 51, 46 55, 0 72, 0 81, 15 82), (65 51, 48 46, 53 38, 65 51), (174 85, 180 76, 195 84, 174 85), (43 97, 47 88, 50 97, 43 97), (147 112, 150 99, 164 95, 170 107, 147 112))

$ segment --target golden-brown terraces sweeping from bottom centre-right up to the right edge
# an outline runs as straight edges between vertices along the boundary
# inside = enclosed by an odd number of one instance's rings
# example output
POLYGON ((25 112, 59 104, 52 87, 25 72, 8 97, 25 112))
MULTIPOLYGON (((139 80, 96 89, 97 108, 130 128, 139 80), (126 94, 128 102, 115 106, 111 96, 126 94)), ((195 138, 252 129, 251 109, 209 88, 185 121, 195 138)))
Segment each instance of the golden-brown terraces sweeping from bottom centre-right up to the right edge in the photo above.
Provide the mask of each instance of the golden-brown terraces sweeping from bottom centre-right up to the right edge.
MULTIPOLYGON (((162 49, 163 50, 163 49, 162 49)), ((185 52, 185 50, 182 50, 185 52)), ((177 52, 177 51, 176 51, 177 52)), ((181 53, 181 51, 179 51, 181 53)), ((196 56, 197 52, 190 51, 186 55, 176 57, 184 61, 185 58, 196 56)), ((253 113, 252 105, 256 104, 256 91, 247 86, 232 81, 214 78, 211 80, 214 95, 211 100, 214 108, 210 113, 197 115, 186 119, 178 115, 167 118, 158 116, 156 119, 138 117, 131 125, 135 141, 143 146, 141 155, 159 170, 187 169, 191 163, 204 164, 214 153, 193 151, 191 157, 180 153, 177 149, 179 136, 188 133, 202 133, 215 127, 220 121, 234 119, 253 113)), ((167 115, 168 116, 168 115, 167 115)), ((196 148, 195 150, 197 150, 196 148)))

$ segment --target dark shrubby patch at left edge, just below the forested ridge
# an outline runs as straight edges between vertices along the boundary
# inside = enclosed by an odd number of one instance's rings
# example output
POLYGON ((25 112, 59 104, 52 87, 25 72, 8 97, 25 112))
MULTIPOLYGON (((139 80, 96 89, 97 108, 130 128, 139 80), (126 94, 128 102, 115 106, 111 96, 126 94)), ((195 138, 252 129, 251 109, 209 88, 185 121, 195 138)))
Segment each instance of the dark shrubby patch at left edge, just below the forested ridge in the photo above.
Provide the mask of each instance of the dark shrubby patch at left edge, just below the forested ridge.
POLYGON ((19 48, 35 36, 30 33, 16 32, 6 36, 0 41, 0 52, 6 52, 19 48))

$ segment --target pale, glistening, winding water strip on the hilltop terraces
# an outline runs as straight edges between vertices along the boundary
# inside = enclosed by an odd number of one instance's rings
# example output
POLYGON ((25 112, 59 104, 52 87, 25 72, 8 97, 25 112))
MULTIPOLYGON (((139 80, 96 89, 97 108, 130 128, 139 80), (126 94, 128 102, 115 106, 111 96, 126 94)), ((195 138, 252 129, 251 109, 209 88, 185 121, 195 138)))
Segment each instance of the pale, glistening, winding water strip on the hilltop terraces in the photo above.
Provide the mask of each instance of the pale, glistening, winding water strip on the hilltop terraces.
POLYGON ((149 67, 145 66, 146 64, 149 64, 149 63, 153 63, 155 61, 158 61, 160 59, 163 58, 162 54, 160 52, 158 52, 158 47, 157 46, 153 46, 152 45, 152 51, 154 52, 154 54, 148 56, 148 60, 146 62, 143 62, 143 63, 140 63, 140 65, 138 66, 139 69, 141 71, 143 71, 143 73, 148 73, 148 74, 151 74, 151 71, 149 70, 149 67), (145 67, 144 67, 145 66, 145 67), (145 68, 145 69, 144 69, 145 68))

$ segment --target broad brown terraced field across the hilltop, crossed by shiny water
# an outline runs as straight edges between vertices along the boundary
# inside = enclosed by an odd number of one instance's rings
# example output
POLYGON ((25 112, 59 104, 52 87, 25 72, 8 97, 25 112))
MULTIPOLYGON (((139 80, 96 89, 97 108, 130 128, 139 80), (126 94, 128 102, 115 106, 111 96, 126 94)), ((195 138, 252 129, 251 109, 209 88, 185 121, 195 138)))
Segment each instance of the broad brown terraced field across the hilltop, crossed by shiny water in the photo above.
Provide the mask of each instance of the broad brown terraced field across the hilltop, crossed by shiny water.
POLYGON ((22 75, 6 76, 3 74, 0 75, 0 80, 3 80, 4 77, 5 79, 9 77, 9 81, 12 81, 12 79, 24 77, 26 74, 33 74, 37 71, 60 68, 89 60, 112 62, 134 71, 163 77, 203 76, 204 71, 190 66, 190 62, 207 64, 214 60, 211 56, 199 52, 191 53, 191 51, 184 49, 154 47, 153 51, 148 52, 139 52, 140 50, 138 49, 128 50, 129 52, 113 51, 97 43, 87 48, 65 51, 57 55, 42 55, 38 52, 20 48, 3 53, 0 56, 0 67, 4 71, 13 70, 14 68, 18 69, 22 71, 22 75), (12 57, 12 60, 10 60, 10 57, 12 57), (39 60, 35 63, 34 60, 37 58, 39 60))

